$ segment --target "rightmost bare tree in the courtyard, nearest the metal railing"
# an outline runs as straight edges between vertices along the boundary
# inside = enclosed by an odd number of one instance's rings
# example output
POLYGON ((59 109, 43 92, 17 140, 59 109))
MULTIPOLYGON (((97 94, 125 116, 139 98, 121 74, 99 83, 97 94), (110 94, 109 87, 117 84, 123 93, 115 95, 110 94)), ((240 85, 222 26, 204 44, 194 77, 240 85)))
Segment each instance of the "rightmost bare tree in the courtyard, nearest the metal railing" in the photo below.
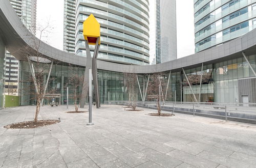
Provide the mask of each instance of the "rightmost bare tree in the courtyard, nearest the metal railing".
POLYGON ((151 74, 150 82, 148 83, 147 98, 148 100, 155 100, 158 115, 161 115, 161 100, 164 102, 166 97, 164 90, 167 89, 167 82, 162 72, 156 72, 151 74))

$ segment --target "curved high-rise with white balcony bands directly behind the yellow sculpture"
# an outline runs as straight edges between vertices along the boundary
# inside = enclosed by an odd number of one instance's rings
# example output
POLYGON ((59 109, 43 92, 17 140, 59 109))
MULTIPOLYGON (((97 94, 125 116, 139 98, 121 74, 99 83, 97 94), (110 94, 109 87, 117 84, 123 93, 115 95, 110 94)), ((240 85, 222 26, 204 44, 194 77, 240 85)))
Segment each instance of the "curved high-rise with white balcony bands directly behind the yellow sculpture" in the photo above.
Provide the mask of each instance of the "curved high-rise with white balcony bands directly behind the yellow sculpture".
MULTIPOLYGON (((149 64, 148 0, 76 1, 75 54, 86 56, 82 23, 93 14, 101 26, 98 59, 121 64, 149 64)), ((92 51, 94 46, 90 46, 92 51)))

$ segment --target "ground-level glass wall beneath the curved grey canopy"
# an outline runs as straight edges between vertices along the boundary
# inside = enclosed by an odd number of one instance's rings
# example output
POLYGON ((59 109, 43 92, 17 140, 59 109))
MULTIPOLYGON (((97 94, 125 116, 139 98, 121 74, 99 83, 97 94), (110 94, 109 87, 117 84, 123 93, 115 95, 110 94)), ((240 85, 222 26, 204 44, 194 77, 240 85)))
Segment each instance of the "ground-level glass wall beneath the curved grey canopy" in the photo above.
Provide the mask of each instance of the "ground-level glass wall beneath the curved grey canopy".
MULTIPOLYGON (((247 59, 256 71, 256 55, 249 55, 247 59)), ((163 77, 166 81, 170 76, 166 101, 238 103, 241 102, 242 90, 246 87, 241 86, 239 81, 255 78, 249 68, 249 64, 243 57, 215 64, 205 64, 203 68, 198 66, 184 71, 186 75, 182 70, 172 70, 171 74, 169 74, 169 71, 164 72, 163 77), (202 85, 200 87, 201 73, 202 85)), ((20 72, 20 81, 26 81, 31 75, 28 62, 22 61, 20 63, 20 72)), ((74 73, 82 76, 84 67, 70 68, 69 65, 58 64, 52 68, 50 78, 53 80, 50 81, 49 86, 56 89, 54 94, 61 94, 62 104, 65 104, 64 100, 67 99, 66 83, 74 73)), ((48 72, 46 72, 46 76, 47 74, 48 72)), ((140 90, 143 91, 143 85, 147 82, 147 78, 148 74, 138 74, 141 88, 139 89, 139 85, 136 84, 137 100, 142 100, 140 90)), ((101 103, 108 100, 121 101, 129 99, 123 73, 98 70, 98 85, 101 103)), ((81 89, 81 87, 79 88, 81 89)), ((21 82, 19 89, 22 97, 21 105, 35 104, 34 95, 31 94, 31 92, 33 93, 33 83, 21 82)), ((166 88, 163 89, 166 90, 166 88)), ((70 86, 69 94, 72 95, 72 86, 70 86)), ((69 102, 70 104, 74 103, 72 98, 70 98, 69 102)), ((251 101, 251 103, 253 102, 251 101)))

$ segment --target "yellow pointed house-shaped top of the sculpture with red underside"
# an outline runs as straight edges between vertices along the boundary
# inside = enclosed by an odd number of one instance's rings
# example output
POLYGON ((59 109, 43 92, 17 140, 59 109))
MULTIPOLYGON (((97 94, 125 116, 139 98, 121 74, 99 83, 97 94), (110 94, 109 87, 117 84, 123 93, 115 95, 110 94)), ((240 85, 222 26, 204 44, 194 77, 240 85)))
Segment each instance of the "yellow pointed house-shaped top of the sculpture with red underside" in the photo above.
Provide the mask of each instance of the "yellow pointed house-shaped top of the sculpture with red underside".
POLYGON ((83 22, 83 37, 90 45, 96 45, 99 37, 98 44, 100 45, 100 24, 93 14, 83 22))

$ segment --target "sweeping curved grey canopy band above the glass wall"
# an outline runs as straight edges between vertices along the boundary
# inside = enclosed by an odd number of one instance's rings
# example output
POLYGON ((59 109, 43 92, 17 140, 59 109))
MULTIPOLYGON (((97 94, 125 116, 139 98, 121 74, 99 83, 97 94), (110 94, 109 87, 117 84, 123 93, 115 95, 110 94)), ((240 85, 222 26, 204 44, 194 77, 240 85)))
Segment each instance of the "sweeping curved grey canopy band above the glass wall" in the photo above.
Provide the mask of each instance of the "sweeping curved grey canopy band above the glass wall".
MULTIPOLYGON (((20 48, 30 46, 35 49, 35 42, 39 42, 39 39, 27 30, 8 0, 0 1, 0 33, 7 50, 18 60, 26 60, 24 55, 18 52, 20 48)), ((86 66, 85 57, 61 51, 44 42, 41 42, 39 52, 48 58, 61 62, 86 66)), ((183 67, 185 69, 194 68, 202 63, 206 65, 241 57, 241 52, 245 52, 246 55, 256 53, 256 29, 223 45, 162 64, 135 66, 98 60, 97 66, 98 69, 116 72, 152 73, 169 70, 179 71, 183 67)))

